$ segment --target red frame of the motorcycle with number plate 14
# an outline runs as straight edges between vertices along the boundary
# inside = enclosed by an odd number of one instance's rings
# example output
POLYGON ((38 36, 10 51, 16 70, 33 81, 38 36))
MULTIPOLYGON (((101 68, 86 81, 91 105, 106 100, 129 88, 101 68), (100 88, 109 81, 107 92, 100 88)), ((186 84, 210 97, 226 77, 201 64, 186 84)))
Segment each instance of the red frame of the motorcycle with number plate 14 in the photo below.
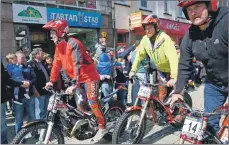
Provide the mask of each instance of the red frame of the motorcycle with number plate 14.
MULTIPOLYGON (((228 103, 225 104, 224 106, 221 106, 219 108, 217 108, 215 111, 213 111, 212 113, 203 113, 202 114, 202 127, 201 127, 201 134, 197 137, 197 139, 190 139, 188 136, 184 135, 184 134, 180 134, 180 142, 179 144, 184 144, 185 141, 192 143, 192 144, 203 144, 203 139, 206 135, 206 129, 207 129, 207 123, 208 123, 208 118, 210 116, 214 116, 214 115, 218 115, 224 112, 228 112, 228 103), (218 111, 218 112, 215 112, 218 111)), ((222 126, 220 127, 220 130, 218 132, 218 136, 221 137, 222 133, 224 132, 225 127, 228 128, 228 114, 225 114, 225 119, 223 121, 222 126)), ((220 141, 220 139, 219 139, 220 141)), ((220 141, 221 142, 221 141, 220 141)))

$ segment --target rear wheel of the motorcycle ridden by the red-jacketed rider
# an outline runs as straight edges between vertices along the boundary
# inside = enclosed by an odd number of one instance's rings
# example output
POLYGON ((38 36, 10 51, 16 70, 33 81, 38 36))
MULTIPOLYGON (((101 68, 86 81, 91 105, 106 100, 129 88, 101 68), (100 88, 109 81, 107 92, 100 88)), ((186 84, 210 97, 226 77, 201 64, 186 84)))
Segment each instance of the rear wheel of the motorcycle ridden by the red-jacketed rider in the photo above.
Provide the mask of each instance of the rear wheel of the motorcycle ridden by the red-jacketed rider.
POLYGON ((106 118, 106 127, 108 129, 108 133, 103 137, 106 140, 112 139, 112 134, 115 129, 115 125, 118 119, 122 116, 126 107, 120 101, 111 101, 109 103, 109 109, 105 114, 106 118))

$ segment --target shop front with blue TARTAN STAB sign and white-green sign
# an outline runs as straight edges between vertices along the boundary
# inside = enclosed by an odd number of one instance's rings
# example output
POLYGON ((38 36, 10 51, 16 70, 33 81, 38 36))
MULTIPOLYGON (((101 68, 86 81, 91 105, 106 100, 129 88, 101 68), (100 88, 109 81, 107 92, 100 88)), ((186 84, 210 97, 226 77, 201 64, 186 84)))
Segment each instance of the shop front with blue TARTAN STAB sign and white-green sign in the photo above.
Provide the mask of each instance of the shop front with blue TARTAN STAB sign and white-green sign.
POLYGON ((42 29, 53 19, 65 19, 70 26, 69 35, 80 39, 87 49, 98 41, 102 23, 100 13, 21 4, 13 4, 12 9, 16 47, 27 52, 26 55, 36 47, 54 54, 55 45, 49 31, 42 29))

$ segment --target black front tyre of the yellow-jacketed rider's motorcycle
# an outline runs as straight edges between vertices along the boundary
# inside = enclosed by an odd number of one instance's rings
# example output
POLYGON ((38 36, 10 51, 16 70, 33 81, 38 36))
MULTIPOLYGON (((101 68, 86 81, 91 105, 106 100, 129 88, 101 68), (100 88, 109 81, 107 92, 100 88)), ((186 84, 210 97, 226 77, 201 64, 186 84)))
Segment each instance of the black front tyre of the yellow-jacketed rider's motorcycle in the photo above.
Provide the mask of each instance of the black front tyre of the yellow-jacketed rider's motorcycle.
MULTIPOLYGON (((132 114, 134 114, 136 112, 141 114, 141 110, 134 110, 134 111, 130 111, 130 112, 125 112, 121 116, 121 118, 118 120, 118 122, 116 123, 116 126, 115 126, 115 130, 114 130, 114 133, 113 133, 113 136, 112 136, 112 144, 120 144, 119 143, 119 134, 123 130, 123 127, 126 125, 127 119, 132 114)), ((147 120, 146 120, 146 115, 145 115, 144 118, 143 118, 141 127, 140 127, 140 133, 131 144, 139 144, 142 141, 142 139, 144 137, 144 134, 145 134, 145 131, 146 131, 146 121, 147 120)))

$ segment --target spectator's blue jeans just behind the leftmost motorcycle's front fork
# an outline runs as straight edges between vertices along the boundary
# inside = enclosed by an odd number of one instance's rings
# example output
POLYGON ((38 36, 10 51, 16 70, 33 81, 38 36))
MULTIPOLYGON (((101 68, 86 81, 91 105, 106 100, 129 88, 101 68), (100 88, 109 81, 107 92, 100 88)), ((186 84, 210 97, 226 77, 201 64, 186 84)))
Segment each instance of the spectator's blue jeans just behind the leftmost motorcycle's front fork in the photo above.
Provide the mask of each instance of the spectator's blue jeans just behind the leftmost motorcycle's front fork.
POLYGON ((49 103, 49 96, 35 97, 35 116, 36 119, 45 119, 47 115, 47 107, 49 103))

